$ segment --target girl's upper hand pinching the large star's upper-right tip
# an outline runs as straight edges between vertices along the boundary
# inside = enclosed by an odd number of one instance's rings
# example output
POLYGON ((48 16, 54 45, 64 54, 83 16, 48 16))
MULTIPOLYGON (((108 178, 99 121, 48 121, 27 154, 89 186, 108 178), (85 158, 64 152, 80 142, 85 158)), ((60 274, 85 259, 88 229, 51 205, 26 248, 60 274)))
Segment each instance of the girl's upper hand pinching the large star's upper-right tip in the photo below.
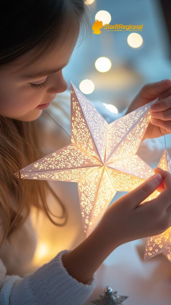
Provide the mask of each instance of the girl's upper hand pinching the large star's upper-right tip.
POLYGON ((171 80, 164 79, 144 85, 127 110, 129 113, 157 97, 159 101, 151 106, 152 116, 143 140, 171 133, 171 80))

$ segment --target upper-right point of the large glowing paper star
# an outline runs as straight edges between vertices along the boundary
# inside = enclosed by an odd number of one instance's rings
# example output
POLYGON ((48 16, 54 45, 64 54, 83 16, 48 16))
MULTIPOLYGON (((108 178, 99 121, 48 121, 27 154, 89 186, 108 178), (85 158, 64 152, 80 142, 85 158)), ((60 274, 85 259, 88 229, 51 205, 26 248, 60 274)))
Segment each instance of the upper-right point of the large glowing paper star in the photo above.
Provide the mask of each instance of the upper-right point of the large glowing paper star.
POLYGON ((115 162, 135 155, 151 118, 150 106, 142 106, 109 124, 106 160, 115 162))

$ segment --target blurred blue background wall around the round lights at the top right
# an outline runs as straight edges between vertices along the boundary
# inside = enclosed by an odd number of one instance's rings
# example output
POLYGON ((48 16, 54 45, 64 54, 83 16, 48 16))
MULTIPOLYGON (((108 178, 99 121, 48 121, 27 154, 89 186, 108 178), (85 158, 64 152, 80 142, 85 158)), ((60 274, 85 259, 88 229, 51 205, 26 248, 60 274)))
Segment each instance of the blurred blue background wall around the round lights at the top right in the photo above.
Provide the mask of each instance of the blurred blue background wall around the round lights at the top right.
POLYGON ((170 78, 170 3, 167 0, 94 0, 87 5, 92 25, 96 13, 105 10, 111 16, 110 24, 143 23, 143 30, 107 32, 102 29, 101 34, 93 34, 92 30, 82 45, 75 48, 71 62, 63 69, 68 90, 70 80, 79 89, 81 81, 91 80, 94 91, 83 92, 87 99, 112 104, 122 111, 145 83, 170 78), (130 33, 141 35, 143 42, 139 47, 128 44, 130 33), (103 73, 95 68, 95 61, 102 56, 112 64, 103 73))

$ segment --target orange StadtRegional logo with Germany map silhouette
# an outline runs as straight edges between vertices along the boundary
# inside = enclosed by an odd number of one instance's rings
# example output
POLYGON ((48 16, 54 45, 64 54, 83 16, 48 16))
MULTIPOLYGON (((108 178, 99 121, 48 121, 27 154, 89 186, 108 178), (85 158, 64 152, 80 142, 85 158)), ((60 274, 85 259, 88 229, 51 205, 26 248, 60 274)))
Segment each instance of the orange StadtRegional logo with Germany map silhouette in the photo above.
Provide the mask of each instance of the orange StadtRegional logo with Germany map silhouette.
POLYGON ((92 25, 93 34, 101 34, 102 31, 100 29, 104 29, 105 32, 108 31, 142 31, 143 23, 142 24, 122 24, 122 23, 115 23, 115 24, 105 24, 103 25, 102 21, 96 20, 92 25))

